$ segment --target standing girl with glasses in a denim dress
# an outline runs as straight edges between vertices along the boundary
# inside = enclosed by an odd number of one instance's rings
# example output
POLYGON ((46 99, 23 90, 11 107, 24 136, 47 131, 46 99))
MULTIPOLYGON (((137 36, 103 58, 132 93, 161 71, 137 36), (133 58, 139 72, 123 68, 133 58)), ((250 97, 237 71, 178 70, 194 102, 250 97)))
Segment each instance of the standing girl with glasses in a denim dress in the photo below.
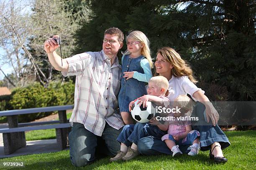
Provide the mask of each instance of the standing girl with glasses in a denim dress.
POLYGON ((133 31, 126 37, 127 50, 122 57, 121 89, 118 104, 126 125, 133 124, 129 103, 147 94, 145 85, 152 77, 153 62, 149 40, 141 31, 133 31))

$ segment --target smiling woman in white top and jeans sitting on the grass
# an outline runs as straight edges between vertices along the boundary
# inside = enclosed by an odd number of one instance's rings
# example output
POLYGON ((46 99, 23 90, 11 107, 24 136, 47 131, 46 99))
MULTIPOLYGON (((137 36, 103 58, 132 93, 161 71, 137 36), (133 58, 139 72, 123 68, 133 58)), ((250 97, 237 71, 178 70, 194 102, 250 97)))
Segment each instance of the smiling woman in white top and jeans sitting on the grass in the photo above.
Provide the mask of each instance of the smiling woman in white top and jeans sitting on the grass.
MULTIPOLYGON (((168 98, 170 101, 174 101, 178 95, 189 94, 195 101, 204 104, 199 103, 197 105, 194 116, 202 118, 205 111, 207 122, 209 123, 211 119, 212 125, 197 125, 193 127, 200 132, 200 149, 202 151, 210 150, 210 158, 215 163, 227 162, 228 160, 223 156, 222 149, 227 148, 230 143, 217 125, 219 119, 218 112, 204 95, 204 91, 194 84, 197 81, 186 62, 182 60, 174 49, 162 47, 157 52, 155 67, 157 75, 162 75, 169 80, 168 98)), ((181 150, 185 151, 187 148, 181 148, 181 150)), ((138 151, 144 155, 172 154, 166 144, 154 138, 154 136, 141 138, 138 141, 138 151)))

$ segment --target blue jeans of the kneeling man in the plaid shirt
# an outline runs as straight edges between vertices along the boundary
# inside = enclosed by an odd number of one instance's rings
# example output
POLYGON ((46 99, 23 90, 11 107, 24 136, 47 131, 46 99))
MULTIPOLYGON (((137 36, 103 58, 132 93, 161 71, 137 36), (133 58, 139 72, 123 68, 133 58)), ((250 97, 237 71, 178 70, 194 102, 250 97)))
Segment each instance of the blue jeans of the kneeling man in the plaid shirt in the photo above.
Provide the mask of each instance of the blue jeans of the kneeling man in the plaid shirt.
POLYGON ((92 163, 95 160, 96 152, 105 155, 114 156, 120 150, 120 143, 115 139, 120 134, 122 128, 116 130, 106 122, 102 136, 97 136, 84 128, 81 123, 73 123, 71 132, 69 133, 69 155, 72 165, 81 167, 92 163), (105 145, 97 146, 100 139, 105 141, 105 145))

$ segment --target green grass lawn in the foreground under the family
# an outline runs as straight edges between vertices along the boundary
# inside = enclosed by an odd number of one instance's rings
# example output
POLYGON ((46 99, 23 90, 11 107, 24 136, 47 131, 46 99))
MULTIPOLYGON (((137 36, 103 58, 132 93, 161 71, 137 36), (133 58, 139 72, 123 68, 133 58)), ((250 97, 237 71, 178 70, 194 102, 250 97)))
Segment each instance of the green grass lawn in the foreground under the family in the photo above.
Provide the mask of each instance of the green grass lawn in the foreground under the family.
MULTIPOLYGON (((216 165, 209 159, 209 152, 200 151, 195 157, 181 155, 172 158, 171 155, 138 156, 131 161, 120 161, 110 163, 106 157, 97 160, 91 165, 83 168, 75 168, 69 160, 69 150, 57 153, 35 154, 18 156, 14 158, 4 158, 0 162, 23 162, 26 169, 97 169, 97 170, 169 170, 169 169, 255 169, 256 167, 256 131, 232 131, 225 132, 231 145, 223 150, 228 163, 216 165)), ((2 164, 3 165, 3 164, 2 164)), ((3 167, 3 166, 2 166, 3 167)), ((1 166, 0 166, 1 168, 1 166)), ((13 168, 14 170, 24 170, 24 168, 13 168)))

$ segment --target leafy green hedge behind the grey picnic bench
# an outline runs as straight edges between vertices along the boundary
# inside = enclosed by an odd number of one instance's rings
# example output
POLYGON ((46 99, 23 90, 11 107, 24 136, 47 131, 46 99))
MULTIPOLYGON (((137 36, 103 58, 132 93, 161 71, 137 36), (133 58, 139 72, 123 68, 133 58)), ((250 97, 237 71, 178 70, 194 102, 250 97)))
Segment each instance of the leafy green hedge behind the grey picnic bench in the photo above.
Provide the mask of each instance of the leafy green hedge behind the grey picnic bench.
MULTIPOLYGON (((47 107, 73 104, 74 85, 69 82, 51 82, 48 88, 39 83, 27 87, 15 88, 11 94, 10 106, 13 109, 26 109, 34 107, 47 107)), ((50 115, 51 112, 19 115, 19 122, 30 122, 50 115)))

